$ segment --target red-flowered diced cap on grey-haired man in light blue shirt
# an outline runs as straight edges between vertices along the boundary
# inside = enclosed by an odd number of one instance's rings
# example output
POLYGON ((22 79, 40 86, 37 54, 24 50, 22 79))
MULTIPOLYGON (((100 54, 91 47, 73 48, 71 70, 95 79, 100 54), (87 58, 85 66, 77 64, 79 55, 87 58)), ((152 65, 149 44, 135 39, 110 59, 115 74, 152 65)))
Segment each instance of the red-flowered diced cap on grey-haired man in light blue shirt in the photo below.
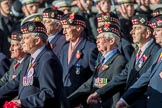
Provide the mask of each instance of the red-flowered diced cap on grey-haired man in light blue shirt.
POLYGON ((111 32, 120 37, 120 29, 117 25, 105 23, 103 26, 97 28, 98 34, 103 32, 111 32))

